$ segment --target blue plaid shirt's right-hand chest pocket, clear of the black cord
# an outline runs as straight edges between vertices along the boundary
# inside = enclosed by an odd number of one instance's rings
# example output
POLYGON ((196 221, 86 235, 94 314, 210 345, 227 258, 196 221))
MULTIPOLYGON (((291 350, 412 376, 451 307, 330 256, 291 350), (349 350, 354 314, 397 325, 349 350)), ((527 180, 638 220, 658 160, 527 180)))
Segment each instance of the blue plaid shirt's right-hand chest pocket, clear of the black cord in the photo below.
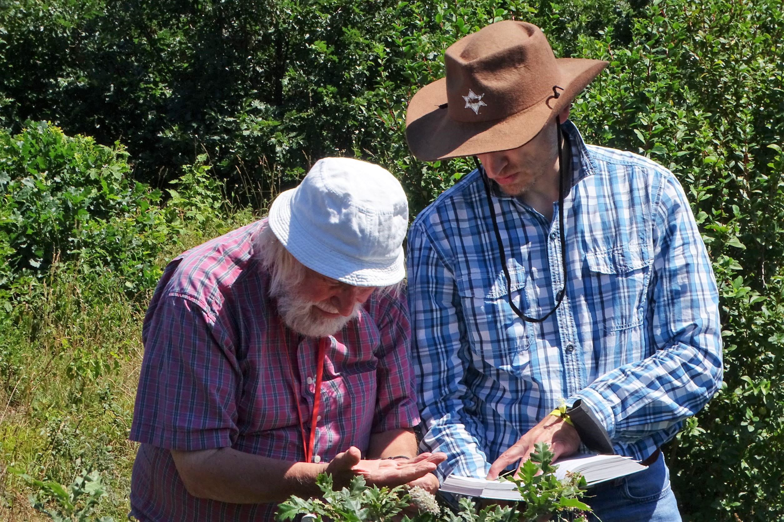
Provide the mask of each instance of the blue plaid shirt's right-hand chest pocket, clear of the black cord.
POLYGON ((648 246, 631 243, 586 252, 583 288, 593 319, 608 332, 640 326, 652 256, 648 246))

